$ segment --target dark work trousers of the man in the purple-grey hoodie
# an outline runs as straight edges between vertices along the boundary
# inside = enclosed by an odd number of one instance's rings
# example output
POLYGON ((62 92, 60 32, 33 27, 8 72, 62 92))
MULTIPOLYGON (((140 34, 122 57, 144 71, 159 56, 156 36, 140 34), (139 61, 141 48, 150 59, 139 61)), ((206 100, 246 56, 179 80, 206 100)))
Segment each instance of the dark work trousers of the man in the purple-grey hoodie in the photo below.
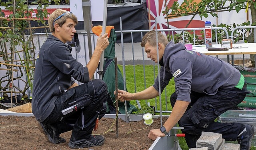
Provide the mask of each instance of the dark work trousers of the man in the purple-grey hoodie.
MULTIPOLYGON (((246 90, 244 84, 242 90, 238 88, 219 88, 215 95, 207 95, 191 91, 191 102, 179 120, 180 127, 184 127, 182 132, 189 148, 196 147, 196 141, 200 138, 202 131, 222 134, 222 138, 227 141, 235 141, 243 126, 240 123, 214 122, 220 114, 236 107, 242 102, 250 92, 246 90)), ((174 107, 177 95, 174 92, 171 97, 171 105, 174 107)))

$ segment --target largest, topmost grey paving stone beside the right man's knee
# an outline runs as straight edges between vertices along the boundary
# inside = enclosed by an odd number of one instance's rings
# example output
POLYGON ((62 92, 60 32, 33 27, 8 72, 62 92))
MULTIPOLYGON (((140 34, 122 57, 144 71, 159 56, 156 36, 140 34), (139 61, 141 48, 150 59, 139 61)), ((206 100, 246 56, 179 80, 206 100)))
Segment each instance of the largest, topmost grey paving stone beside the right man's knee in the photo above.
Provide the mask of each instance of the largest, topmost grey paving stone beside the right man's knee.
POLYGON ((196 148, 208 147, 209 150, 218 150, 222 144, 222 134, 213 132, 202 132, 196 141, 196 148))

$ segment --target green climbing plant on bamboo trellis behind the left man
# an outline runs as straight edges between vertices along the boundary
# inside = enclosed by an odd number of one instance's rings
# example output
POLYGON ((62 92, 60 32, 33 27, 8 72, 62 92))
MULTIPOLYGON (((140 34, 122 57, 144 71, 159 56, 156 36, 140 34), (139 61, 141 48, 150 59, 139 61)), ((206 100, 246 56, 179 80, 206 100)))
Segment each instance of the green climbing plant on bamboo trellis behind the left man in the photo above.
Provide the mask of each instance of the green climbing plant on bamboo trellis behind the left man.
POLYGON ((36 28, 44 28, 47 33, 44 20, 48 16, 47 2, 48 0, 36 0, 30 4, 38 5, 36 16, 32 16, 34 10, 26 0, 1 2, 4 9, 0 8, 0 70, 6 70, 6 74, 0 78, 0 93, 3 93, 4 98, 8 98, 7 93, 26 95, 28 89, 31 92, 33 90, 35 46, 32 34, 36 28), (6 11, 10 14, 5 14, 6 11), (32 21, 43 26, 31 27, 32 21), (25 86, 21 88, 15 85, 15 80, 24 82, 25 86))

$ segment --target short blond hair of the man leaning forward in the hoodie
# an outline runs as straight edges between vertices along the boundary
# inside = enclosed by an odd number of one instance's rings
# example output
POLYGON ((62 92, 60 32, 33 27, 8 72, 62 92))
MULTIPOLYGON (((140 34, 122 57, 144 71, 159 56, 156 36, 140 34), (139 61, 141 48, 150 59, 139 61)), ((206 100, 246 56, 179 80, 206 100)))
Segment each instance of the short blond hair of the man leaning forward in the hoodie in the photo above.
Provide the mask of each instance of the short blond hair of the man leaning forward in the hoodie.
MULTIPOLYGON (((164 46, 168 44, 168 40, 166 36, 164 36, 161 32, 157 32, 157 36, 158 36, 158 43, 161 43, 164 46)), ((140 46, 145 47, 146 43, 150 44, 150 46, 156 46, 156 30, 151 30, 148 33, 146 33, 142 38, 142 42, 140 43, 140 46)))

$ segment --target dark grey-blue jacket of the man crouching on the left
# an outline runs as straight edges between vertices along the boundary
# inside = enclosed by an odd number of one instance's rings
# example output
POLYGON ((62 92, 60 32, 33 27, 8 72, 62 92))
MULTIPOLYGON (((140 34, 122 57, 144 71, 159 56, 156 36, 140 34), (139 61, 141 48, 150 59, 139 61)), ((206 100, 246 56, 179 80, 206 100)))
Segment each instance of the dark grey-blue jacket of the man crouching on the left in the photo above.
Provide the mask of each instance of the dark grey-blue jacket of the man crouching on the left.
POLYGON ((72 47, 53 35, 40 48, 32 93, 32 112, 39 122, 44 121, 54 109, 53 97, 63 94, 74 84, 72 77, 82 83, 89 82, 88 68, 72 57, 71 50, 72 47))

